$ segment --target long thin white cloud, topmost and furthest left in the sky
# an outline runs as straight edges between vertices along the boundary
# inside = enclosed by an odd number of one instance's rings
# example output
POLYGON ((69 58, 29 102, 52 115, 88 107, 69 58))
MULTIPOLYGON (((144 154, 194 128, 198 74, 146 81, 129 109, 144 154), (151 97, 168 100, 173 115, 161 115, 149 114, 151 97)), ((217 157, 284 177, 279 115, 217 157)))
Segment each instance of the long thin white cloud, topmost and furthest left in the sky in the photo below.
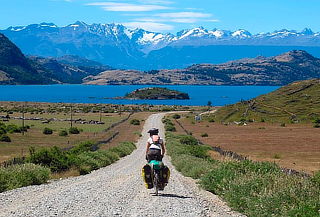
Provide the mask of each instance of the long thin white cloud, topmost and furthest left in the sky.
POLYGON ((101 6, 106 11, 127 11, 127 12, 143 12, 170 9, 166 6, 153 5, 153 4, 129 4, 117 2, 95 2, 88 3, 87 5, 101 6))

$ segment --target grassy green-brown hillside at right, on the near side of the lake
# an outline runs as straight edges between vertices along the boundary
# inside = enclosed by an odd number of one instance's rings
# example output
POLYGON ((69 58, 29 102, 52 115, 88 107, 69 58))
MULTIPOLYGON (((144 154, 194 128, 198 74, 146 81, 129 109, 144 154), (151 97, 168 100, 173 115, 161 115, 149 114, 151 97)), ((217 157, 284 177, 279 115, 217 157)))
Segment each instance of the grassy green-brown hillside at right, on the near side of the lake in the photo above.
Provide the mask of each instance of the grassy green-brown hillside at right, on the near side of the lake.
MULTIPOLYGON (((282 60, 287 61, 287 57, 282 60)), ((224 106, 213 116, 223 122, 296 123, 320 119, 320 79, 294 82, 252 100, 224 106)))

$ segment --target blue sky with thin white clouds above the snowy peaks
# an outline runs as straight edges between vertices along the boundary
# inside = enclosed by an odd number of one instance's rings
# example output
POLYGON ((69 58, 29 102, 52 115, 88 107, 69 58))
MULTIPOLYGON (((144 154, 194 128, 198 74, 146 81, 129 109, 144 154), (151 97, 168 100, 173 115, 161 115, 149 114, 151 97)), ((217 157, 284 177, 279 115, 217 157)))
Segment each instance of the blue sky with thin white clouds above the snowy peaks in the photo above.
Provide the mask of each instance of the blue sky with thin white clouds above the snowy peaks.
POLYGON ((175 33, 203 26, 246 29, 320 31, 320 0, 0 0, 0 29, 53 22, 121 23, 175 33))

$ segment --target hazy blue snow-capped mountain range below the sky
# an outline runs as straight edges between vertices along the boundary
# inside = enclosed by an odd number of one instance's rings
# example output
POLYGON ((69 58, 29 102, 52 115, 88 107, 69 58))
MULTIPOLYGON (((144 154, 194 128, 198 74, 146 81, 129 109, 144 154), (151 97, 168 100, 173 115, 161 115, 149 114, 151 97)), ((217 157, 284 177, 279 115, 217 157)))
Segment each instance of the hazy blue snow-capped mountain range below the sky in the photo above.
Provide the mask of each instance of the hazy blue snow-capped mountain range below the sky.
POLYGON ((77 55, 120 69, 183 68, 199 63, 270 57, 290 50, 306 50, 320 57, 320 33, 307 28, 251 34, 243 29, 198 27, 174 35, 129 29, 119 24, 89 25, 77 21, 64 27, 53 23, 9 27, 0 33, 28 55, 77 55))

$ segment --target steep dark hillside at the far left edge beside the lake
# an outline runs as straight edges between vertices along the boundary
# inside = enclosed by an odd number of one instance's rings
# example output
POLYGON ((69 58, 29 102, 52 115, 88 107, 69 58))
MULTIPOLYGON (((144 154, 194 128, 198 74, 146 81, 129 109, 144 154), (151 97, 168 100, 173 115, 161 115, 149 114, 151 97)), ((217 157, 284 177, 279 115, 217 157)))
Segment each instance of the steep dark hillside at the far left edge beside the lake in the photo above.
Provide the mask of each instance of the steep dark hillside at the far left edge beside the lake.
POLYGON ((32 66, 20 49, 0 33, 0 84, 54 83, 32 66))

